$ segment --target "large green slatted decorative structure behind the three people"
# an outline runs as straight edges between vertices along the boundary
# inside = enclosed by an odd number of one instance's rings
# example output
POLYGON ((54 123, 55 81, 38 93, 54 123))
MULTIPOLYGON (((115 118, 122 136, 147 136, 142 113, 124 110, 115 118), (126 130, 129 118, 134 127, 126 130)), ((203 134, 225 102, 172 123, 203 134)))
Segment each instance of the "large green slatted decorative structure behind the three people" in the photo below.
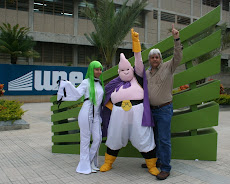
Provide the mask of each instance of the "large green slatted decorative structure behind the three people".
MULTIPOLYGON (((188 89, 173 94, 174 115, 171 123, 172 133, 172 158, 216 160, 217 132, 212 128, 218 125, 219 105, 212 100, 219 97, 220 82, 208 81, 196 85, 196 81, 218 74, 220 72, 221 56, 194 65, 194 60, 214 50, 221 45, 221 31, 204 36, 207 30, 214 28, 220 21, 220 6, 201 17, 199 20, 180 30, 183 44, 183 59, 180 65, 185 65, 185 70, 175 74, 173 88, 187 84, 188 89), (203 35, 203 37, 201 36, 203 35)), ((174 41, 170 36, 142 52, 143 62, 148 62, 148 53, 152 48, 159 48, 163 61, 172 58, 174 41)), ((134 64, 134 57, 130 58, 134 64)), ((118 66, 103 72, 105 82, 115 78, 118 66)), ((80 129, 77 116, 82 100, 77 102, 63 102, 57 105, 56 96, 50 101, 53 103, 51 110, 52 126, 52 152, 53 153, 80 153, 80 129)), ((106 138, 103 138, 99 154, 106 152, 106 138)), ((141 157, 141 154, 129 142, 119 152, 123 157, 141 157)))

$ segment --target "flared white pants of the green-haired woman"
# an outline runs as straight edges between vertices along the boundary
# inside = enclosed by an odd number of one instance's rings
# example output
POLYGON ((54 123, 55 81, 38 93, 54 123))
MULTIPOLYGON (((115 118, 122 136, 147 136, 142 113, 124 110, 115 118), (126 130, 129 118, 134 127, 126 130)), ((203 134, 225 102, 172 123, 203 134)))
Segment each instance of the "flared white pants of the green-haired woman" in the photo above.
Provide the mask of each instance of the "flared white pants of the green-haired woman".
MULTIPOLYGON (((94 117, 93 114, 87 113, 82 107, 79 116, 78 124, 80 127, 80 162, 76 171, 78 173, 90 174, 91 162, 94 162, 95 166, 98 165, 98 150, 102 141, 101 122, 98 117, 94 117), (93 142, 90 147, 90 138, 93 138, 93 142)), ((91 110, 89 110, 91 111, 91 110)))

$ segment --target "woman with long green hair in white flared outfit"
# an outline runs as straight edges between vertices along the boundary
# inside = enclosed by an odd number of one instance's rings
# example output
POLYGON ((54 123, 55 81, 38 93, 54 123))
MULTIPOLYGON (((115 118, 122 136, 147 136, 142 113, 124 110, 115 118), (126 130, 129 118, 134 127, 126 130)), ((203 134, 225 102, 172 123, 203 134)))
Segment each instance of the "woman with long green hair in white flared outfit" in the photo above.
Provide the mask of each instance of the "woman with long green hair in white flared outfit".
POLYGON ((78 115, 80 127, 80 162, 76 172, 90 174, 97 172, 98 150, 102 140, 101 134, 101 103, 104 96, 104 84, 102 79, 102 65, 98 61, 89 64, 85 79, 75 88, 69 81, 61 81, 57 100, 76 101, 82 96, 84 103, 78 115), (66 95, 64 95, 64 90, 66 95), (90 138, 93 143, 90 146, 90 138))

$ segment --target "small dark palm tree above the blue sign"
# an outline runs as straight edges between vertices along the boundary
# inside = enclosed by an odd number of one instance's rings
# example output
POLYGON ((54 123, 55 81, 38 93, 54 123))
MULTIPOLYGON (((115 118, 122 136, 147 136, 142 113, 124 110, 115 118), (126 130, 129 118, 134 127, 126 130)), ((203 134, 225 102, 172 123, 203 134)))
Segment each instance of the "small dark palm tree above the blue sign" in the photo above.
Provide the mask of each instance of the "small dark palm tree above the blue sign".
POLYGON ((38 58, 39 53, 33 50, 35 42, 28 36, 29 28, 11 27, 9 23, 0 26, 0 52, 10 54, 11 64, 16 64, 18 57, 38 58))

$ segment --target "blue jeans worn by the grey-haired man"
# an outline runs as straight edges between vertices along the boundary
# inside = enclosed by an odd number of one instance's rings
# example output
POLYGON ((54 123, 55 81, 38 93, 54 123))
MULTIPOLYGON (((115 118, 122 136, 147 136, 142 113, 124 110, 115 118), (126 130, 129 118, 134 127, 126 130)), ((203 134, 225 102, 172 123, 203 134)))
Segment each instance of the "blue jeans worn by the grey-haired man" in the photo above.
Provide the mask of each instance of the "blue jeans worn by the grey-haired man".
POLYGON ((172 104, 159 109, 152 109, 154 118, 154 137, 156 142, 156 155, 161 163, 161 171, 171 170, 171 119, 173 115, 172 104))

